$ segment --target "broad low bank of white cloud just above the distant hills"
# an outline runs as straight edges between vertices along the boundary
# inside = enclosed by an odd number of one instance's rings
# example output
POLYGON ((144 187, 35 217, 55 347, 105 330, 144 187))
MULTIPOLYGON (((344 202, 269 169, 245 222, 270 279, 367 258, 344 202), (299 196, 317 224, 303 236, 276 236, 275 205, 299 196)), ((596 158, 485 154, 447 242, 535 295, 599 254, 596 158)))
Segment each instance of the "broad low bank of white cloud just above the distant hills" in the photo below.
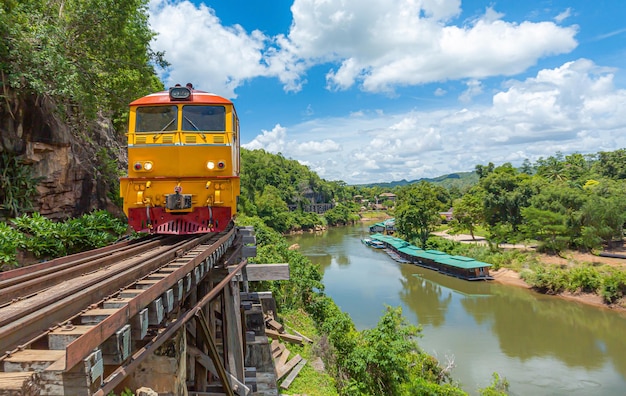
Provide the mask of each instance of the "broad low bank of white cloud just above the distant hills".
POLYGON ((508 81, 489 106, 384 116, 362 112, 290 126, 289 136, 283 155, 306 162, 324 178, 350 184, 472 171, 487 161, 519 166, 524 159, 558 151, 626 147, 626 90, 614 87, 612 69, 580 59, 508 81), (297 137, 313 134, 322 139, 320 147, 326 138, 340 145, 341 155, 300 150, 310 142, 298 143, 297 137))

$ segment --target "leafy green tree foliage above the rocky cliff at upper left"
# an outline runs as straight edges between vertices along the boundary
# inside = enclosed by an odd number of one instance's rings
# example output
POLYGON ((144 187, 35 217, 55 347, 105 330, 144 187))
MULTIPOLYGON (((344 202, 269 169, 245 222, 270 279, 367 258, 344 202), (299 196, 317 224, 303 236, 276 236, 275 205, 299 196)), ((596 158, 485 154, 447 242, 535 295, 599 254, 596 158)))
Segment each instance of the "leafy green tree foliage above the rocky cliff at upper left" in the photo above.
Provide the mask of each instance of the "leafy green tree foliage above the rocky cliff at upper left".
MULTIPOLYGON (((121 126, 128 103, 160 89, 147 0, 30 0, 0 5, 0 72, 7 101, 43 96, 84 133, 83 119, 121 126)), ((123 129, 119 129, 123 130, 123 129)))

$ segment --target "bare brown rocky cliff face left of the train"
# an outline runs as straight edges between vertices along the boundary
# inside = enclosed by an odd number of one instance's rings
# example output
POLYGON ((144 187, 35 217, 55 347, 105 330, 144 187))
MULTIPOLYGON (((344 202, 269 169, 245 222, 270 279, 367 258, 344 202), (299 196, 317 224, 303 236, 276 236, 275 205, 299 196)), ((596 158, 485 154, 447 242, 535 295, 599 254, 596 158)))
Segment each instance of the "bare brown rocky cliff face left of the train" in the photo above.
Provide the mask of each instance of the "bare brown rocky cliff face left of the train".
POLYGON ((62 114, 47 98, 20 98, 5 90, 0 152, 17 155, 24 166, 32 168, 33 176, 40 178, 33 208, 42 215, 66 219, 94 209, 121 215, 107 197, 115 179, 103 177, 107 167, 102 161, 107 157, 102 153, 108 153, 108 161, 125 169, 121 138, 104 117, 91 122, 79 122, 78 118, 62 114))

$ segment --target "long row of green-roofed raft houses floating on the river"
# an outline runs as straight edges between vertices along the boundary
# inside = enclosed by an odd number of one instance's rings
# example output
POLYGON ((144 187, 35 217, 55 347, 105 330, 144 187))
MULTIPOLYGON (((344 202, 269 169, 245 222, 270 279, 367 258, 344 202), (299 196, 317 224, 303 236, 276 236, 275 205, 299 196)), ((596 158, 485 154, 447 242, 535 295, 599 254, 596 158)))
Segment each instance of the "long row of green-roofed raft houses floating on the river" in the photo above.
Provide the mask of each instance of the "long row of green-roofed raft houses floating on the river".
POLYGON ((449 255, 439 250, 423 250, 391 235, 378 233, 370 235, 370 238, 383 242, 404 260, 421 267, 467 280, 493 279, 489 275, 491 264, 470 257, 449 255))

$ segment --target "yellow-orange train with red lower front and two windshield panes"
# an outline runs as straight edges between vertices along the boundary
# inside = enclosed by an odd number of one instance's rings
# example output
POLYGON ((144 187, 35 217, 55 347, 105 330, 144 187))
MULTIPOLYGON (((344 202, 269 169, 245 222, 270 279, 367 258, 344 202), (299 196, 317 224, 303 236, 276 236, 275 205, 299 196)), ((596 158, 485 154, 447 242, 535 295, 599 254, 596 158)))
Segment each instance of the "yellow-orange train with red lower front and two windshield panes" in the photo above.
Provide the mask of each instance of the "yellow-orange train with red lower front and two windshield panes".
POLYGON ((128 225, 149 234, 221 232, 240 194, 239 118, 233 102, 176 84, 130 103, 128 225))

